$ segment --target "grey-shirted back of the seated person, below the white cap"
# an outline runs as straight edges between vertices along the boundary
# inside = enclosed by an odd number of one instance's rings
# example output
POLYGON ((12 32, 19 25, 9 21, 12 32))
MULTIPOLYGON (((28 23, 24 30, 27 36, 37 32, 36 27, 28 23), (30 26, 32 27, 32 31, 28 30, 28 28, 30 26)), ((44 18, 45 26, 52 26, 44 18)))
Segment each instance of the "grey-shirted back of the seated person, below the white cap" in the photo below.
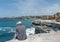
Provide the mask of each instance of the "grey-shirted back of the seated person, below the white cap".
POLYGON ((26 28, 22 24, 18 24, 16 29, 16 39, 25 40, 27 38, 26 28))

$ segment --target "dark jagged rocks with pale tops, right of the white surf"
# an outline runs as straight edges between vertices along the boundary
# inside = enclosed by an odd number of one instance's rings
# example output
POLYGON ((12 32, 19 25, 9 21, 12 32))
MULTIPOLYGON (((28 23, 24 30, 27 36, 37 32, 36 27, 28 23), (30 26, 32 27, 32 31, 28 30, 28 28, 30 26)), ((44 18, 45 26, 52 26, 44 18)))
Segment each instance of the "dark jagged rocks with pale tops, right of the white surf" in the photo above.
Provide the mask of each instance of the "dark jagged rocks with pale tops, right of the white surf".
POLYGON ((55 20, 35 20, 33 23, 35 27, 35 33, 48 33, 51 30, 58 31, 60 30, 60 22, 55 20))

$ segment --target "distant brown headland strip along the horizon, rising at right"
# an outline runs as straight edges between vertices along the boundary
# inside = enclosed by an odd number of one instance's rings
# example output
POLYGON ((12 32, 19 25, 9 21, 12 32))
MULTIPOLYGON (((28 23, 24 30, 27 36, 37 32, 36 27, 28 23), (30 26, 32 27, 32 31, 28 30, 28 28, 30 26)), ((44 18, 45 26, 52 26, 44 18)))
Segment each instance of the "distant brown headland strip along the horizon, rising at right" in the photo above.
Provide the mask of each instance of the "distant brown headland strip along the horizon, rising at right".
POLYGON ((58 22, 60 22, 60 12, 57 12, 54 15, 3 17, 0 19, 45 19, 45 20, 57 20, 58 22))

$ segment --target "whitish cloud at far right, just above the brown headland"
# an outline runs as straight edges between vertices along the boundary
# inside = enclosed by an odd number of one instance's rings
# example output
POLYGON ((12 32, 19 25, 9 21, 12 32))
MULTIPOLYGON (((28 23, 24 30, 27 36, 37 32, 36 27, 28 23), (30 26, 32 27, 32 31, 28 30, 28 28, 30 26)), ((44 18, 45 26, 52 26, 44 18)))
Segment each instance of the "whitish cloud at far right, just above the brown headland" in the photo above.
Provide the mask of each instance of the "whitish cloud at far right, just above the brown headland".
POLYGON ((46 15, 53 15, 56 12, 60 12, 60 5, 53 4, 52 6, 42 9, 42 12, 43 12, 43 14, 46 14, 46 15))

